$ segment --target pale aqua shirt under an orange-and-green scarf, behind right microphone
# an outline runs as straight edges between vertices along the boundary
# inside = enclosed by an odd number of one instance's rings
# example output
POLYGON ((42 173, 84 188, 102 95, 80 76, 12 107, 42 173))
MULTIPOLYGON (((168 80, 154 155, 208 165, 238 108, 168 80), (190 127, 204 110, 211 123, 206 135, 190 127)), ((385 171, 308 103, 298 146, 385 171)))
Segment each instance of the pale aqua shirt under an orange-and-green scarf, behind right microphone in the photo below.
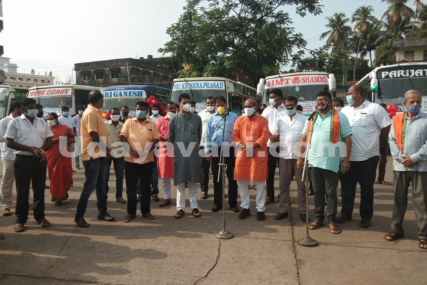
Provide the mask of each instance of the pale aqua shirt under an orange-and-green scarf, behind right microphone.
MULTIPOLYGON (((338 112, 340 118, 340 133, 336 144, 331 142, 331 110, 322 117, 317 115, 313 135, 311 137, 311 148, 309 149, 309 163, 313 167, 318 167, 333 172, 340 170, 341 158, 346 154, 346 147, 343 138, 351 135, 350 123, 346 115, 338 112)), ((302 134, 307 135, 307 126, 309 121, 306 121, 302 134)))

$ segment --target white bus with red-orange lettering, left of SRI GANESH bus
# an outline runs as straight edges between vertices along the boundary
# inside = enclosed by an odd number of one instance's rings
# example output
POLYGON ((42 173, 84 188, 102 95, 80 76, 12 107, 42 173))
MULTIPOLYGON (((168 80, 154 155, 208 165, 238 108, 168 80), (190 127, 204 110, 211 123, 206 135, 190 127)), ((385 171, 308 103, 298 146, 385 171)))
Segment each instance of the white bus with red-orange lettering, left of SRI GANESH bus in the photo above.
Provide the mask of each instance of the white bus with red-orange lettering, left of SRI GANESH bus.
POLYGON ((92 90, 101 90, 100 87, 85 85, 50 85, 36 86, 28 89, 27 97, 33 98, 43 106, 43 118, 50 112, 61 114, 62 107, 70 107, 72 115, 77 114, 77 107, 87 107, 89 93, 92 90))

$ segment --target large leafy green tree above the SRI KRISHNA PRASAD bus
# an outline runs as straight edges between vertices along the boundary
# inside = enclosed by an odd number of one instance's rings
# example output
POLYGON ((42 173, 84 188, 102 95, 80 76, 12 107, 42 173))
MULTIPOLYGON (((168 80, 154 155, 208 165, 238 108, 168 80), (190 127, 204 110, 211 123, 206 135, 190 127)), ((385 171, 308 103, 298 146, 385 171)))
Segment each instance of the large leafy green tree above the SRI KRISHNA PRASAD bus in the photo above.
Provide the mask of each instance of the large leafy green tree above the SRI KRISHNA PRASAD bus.
POLYGON ((180 76, 236 78, 244 72, 256 85, 288 63, 293 47, 305 44, 285 6, 295 6, 302 16, 321 12, 319 0, 187 0, 159 52, 188 66, 180 76))

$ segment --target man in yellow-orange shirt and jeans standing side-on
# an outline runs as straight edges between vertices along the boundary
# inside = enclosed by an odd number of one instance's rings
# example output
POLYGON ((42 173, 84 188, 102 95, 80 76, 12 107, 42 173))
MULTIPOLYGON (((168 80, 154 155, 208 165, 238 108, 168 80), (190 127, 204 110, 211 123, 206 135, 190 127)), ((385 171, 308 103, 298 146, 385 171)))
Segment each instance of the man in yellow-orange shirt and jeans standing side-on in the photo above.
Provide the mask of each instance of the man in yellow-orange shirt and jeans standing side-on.
POLYGON ((81 160, 85 167, 85 184, 77 204, 74 222, 82 228, 89 224, 83 216, 87 208, 87 200, 96 189, 98 200, 98 220, 114 222, 114 218, 107 213, 107 197, 105 194, 105 157, 109 154, 108 133, 105 128, 101 109, 104 105, 103 94, 94 90, 89 94, 89 105, 81 118, 81 160))

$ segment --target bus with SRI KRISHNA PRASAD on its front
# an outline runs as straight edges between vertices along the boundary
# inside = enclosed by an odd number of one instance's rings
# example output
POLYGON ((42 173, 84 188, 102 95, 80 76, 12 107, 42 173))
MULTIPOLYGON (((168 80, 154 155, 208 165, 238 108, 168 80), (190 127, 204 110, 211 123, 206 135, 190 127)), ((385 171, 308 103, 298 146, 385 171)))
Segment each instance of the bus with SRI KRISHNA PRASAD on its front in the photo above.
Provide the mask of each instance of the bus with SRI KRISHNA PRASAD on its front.
POLYGON ((256 94, 255 88, 224 77, 176 78, 172 83, 170 101, 178 103, 178 96, 182 93, 189 94, 191 101, 196 102, 196 112, 206 109, 206 98, 209 96, 224 96, 227 109, 238 116, 246 99, 253 98, 261 102, 261 96, 256 94))

